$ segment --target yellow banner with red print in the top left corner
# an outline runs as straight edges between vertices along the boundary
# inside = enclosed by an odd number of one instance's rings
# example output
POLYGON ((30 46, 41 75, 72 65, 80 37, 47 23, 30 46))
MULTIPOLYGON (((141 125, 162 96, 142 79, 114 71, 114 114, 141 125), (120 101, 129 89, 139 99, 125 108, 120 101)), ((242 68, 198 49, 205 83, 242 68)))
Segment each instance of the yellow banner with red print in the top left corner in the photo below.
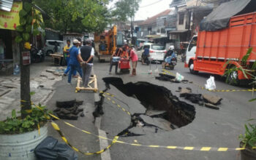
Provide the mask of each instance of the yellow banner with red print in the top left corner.
POLYGON ((14 2, 10 12, 0 10, 0 28, 15 30, 20 25, 19 12, 22 9, 22 2, 14 2))

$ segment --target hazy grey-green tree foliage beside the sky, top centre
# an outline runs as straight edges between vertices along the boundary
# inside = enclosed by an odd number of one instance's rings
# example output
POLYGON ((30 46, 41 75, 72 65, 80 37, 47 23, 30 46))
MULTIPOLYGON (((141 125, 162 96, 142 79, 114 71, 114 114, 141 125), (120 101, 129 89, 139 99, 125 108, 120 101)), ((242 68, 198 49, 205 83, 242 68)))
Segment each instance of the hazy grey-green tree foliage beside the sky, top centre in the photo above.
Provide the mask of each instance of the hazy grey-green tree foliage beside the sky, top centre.
POLYGON ((112 16, 117 20, 126 21, 129 18, 135 17, 135 13, 139 9, 141 0, 120 0, 117 1, 113 10, 112 16))

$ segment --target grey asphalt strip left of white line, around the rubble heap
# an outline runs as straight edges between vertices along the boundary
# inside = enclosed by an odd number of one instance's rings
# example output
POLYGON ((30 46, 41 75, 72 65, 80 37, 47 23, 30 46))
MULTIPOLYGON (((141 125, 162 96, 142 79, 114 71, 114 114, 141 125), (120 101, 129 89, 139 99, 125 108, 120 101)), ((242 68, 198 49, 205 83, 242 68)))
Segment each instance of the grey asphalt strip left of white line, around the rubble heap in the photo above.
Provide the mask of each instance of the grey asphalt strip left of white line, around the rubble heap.
MULTIPOLYGON (((72 85, 67 84, 67 77, 64 77, 62 81, 58 81, 53 87, 56 88, 53 96, 50 97, 50 100, 46 104, 50 111, 56 109, 56 101, 64 100, 83 100, 83 105, 80 105, 80 108, 83 108, 84 117, 78 117, 78 120, 64 120, 70 124, 84 129, 88 132, 91 132, 94 135, 99 135, 99 129, 94 125, 94 92, 78 92, 75 93, 76 80, 72 79, 72 85)), ((78 114, 80 115, 80 114, 78 114)), ((86 153, 94 153, 100 151, 99 138, 93 135, 80 132, 78 129, 69 127, 67 124, 64 124, 61 121, 56 121, 59 124, 61 132, 64 133, 64 136, 67 138, 69 143, 71 143, 75 148, 78 148, 80 151, 86 153)), ((63 142, 59 133, 51 127, 48 126, 48 135, 53 136, 63 142)), ((78 152, 77 152, 78 153, 78 152)), ((101 155, 86 156, 82 153, 78 153, 79 159, 101 159, 101 155)))

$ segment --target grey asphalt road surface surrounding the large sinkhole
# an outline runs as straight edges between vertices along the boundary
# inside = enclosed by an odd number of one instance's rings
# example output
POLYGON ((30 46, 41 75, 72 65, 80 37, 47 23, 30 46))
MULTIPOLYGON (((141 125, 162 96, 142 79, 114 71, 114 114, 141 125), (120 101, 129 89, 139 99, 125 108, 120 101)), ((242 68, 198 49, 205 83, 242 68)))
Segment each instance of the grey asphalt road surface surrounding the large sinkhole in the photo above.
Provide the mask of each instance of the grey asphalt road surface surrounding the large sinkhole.
MULTIPOLYGON (((95 60, 96 61, 96 60, 95 60)), ((168 81, 159 81, 155 79, 157 73, 156 64, 151 65, 152 74, 148 74, 149 66, 138 63, 137 76, 109 75, 109 63, 94 63, 94 72, 97 74, 99 89, 104 89, 105 84, 102 78, 109 76, 120 77, 124 84, 127 82, 147 81, 151 84, 157 84, 170 89, 173 95, 178 96, 179 100, 189 101, 179 97, 176 92, 178 87, 190 87, 193 93, 207 93, 209 95, 218 95, 222 97, 222 103, 219 105, 219 110, 202 107, 197 104, 195 106, 195 119, 187 126, 174 129, 172 131, 159 130, 152 132, 151 129, 146 129, 145 135, 119 137, 118 140, 135 143, 139 145, 161 145, 161 146, 179 146, 181 149, 170 148, 151 148, 145 146, 127 145, 116 143, 110 148, 111 159, 225 159, 234 160, 240 159, 239 151, 195 151, 200 147, 211 148, 238 148, 238 135, 244 133, 244 124, 246 120, 256 118, 255 103, 249 103, 252 99, 252 92, 208 92, 202 90, 194 84, 170 83, 168 81), (192 151, 184 150, 183 147, 192 151)), ((162 66, 158 65, 158 70, 161 72, 162 66)), ((114 71, 114 69, 113 69, 114 71)), ((170 70, 169 70, 170 71, 170 70)), ((192 75, 188 68, 184 68, 184 63, 178 62, 172 73, 181 73, 185 79, 194 81, 197 84, 204 86, 206 80, 210 77, 207 73, 198 73, 192 75)), ((249 87, 233 87, 225 84, 225 79, 215 76, 217 89, 249 89, 249 87)), ((116 87, 110 86, 109 92, 115 97, 110 97, 115 103, 118 103, 125 111, 133 113, 145 113, 146 108, 140 104, 140 101, 134 97, 127 97, 122 94, 116 87)), ((145 94, 151 94, 150 92, 145 94)), ((104 112, 102 116, 101 129, 105 130, 108 138, 113 139, 115 135, 129 127, 131 116, 127 112, 119 108, 113 101, 105 99, 104 112)), ((109 142, 110 143, 110 142, 109 142)))

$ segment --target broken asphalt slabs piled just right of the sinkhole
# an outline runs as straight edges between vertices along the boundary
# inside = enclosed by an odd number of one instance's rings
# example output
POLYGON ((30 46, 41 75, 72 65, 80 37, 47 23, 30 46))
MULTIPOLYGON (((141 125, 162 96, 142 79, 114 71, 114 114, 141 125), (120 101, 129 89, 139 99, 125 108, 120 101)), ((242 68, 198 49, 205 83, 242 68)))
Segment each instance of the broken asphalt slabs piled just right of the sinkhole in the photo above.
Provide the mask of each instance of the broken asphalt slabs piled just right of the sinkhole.
POLYGON ((184 97, 187 100, 190 100, 192 103, 197 103, 198 105, 205 105, 207 108, 219 110, 217 105, 220 105, 222 98, 214 95, 208 94, 194 94, 192 93, 192 89, 190 88, 181 88, 178 87, 178 91, 180 92, 180 97, 184 97))

